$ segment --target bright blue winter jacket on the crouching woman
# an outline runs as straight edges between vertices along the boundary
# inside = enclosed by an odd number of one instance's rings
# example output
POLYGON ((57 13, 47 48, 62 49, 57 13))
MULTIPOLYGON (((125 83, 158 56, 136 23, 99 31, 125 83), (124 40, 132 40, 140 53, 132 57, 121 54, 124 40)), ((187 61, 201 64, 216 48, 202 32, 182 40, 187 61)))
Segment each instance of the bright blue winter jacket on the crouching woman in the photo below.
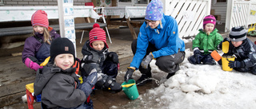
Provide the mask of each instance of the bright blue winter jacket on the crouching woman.
POLYGON ((155 29, 151 29, 150 26, 146 27, 146 22, 142 24, 138 33, 137 51, 133 61, 130 63, 130 67, 139 67, 143 57, 146 55, 149 42, 158 49, 158 51, 152 53, 154 58, 185 51, 184 41, 178 37, 177 21, 171 16, 163 15, 162 28, 160 24, 155 29))

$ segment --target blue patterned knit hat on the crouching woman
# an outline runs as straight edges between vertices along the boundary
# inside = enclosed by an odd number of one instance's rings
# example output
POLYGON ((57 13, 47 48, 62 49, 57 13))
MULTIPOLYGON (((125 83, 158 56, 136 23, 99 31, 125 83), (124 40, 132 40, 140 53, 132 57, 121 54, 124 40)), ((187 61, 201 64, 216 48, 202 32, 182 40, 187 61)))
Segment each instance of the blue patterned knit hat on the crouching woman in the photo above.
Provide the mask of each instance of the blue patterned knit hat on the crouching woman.
POLYGON ((161 0, 152 0, 146 7, 145 19, 151 21, 162 20, 162 2, 161 0))

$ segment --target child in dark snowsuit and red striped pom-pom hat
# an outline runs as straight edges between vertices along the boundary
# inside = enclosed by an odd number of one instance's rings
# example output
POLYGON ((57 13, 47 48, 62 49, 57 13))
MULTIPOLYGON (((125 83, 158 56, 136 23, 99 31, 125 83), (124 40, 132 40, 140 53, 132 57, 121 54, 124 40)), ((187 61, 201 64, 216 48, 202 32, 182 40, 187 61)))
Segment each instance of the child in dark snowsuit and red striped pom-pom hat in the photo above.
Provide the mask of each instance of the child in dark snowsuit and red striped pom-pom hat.
POLYGON ((95 23, 94 29, 90 30, 89 38, 82 47, 82 76, 88 76, 92 69, 90 66, 96 64, 98 82, 95 88, 113 92, 122 91, 121 84, 116 83, 115 80, 118 75, 118 54, 108 51, 105 31, 95 23))

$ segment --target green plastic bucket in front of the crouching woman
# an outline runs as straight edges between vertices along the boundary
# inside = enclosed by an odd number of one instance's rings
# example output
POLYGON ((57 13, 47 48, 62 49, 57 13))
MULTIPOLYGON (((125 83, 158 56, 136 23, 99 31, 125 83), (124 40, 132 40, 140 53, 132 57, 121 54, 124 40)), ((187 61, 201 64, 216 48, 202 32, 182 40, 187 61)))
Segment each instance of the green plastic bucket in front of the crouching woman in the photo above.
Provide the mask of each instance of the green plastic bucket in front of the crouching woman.
POLYGON ((122 85, 126 85, 126 84, 134 84, 134 85, 130 86, 129 88, 122 87, 122 91, 125 92, 125 94, 128 96, 129 99, 131 100, 137 99, 138 89, 137 89, 135 80, 129 80, 127 83, 126 81, 122 83, 122 85))

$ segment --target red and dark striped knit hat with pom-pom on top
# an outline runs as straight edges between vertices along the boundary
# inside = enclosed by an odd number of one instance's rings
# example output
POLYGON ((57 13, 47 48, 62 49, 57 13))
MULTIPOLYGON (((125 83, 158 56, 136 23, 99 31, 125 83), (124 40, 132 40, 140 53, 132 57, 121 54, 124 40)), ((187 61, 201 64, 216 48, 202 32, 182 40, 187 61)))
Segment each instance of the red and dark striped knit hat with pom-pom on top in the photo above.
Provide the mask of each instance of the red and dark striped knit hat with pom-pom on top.
POLYGON ((100 28, 98 23, 95 23, 93 28, 94 29, 91 29, 89 33, 90 46, 94 41, 103 41, 106 48, 109 48, 109 46, 106 44, 106 32, 100 28))

